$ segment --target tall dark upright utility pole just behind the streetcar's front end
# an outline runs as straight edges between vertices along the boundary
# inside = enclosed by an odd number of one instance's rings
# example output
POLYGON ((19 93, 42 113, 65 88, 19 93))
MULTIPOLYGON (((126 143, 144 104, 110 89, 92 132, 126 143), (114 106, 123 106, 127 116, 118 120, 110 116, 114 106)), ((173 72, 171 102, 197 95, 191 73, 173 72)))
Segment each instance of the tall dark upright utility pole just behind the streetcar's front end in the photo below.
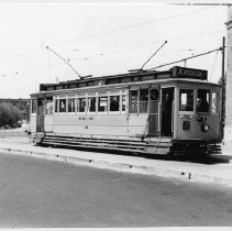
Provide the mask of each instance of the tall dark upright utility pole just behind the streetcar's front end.
POLYGON ((222 37, 222 68, 221 68, 221 85, 222 85, 222 111, 221 111, 221 132, 222 139, 224 139, 224 125, 225 125, 225 75, 224 75, 224 47, 225 37, 222 37))

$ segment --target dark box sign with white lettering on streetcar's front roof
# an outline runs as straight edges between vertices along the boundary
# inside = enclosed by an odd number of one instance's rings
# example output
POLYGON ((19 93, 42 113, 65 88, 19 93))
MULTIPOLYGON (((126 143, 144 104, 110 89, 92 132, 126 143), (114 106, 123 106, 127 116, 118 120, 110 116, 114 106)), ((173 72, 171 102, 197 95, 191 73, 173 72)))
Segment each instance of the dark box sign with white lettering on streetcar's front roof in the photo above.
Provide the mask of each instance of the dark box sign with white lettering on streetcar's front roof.
POLYGON ((207 80, 208 72, 203 69, 192 69, 186 67, 174 67, 173 68, 173 77, 174 78, 195 78, 207 80))

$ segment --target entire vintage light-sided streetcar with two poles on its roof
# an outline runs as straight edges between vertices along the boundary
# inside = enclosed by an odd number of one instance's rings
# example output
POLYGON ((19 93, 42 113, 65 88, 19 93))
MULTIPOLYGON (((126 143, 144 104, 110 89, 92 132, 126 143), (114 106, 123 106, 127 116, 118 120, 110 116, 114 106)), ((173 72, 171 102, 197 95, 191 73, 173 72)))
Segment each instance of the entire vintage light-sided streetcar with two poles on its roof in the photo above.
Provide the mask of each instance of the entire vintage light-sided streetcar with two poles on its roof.
POLYGON ((220 153, 222 89, 207 75, 175 66, 41 84, 31 95, 31 135, 48 146, 220 153))

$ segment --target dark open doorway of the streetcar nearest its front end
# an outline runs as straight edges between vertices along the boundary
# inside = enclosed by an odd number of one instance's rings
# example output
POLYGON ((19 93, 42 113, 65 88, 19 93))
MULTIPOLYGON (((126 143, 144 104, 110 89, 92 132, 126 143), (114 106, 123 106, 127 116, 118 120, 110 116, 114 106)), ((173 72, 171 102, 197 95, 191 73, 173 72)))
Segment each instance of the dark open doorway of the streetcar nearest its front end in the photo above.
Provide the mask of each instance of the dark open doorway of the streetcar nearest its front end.
POLYGON ((173 136, 174 87, 162 89, 162 136, 173 136))

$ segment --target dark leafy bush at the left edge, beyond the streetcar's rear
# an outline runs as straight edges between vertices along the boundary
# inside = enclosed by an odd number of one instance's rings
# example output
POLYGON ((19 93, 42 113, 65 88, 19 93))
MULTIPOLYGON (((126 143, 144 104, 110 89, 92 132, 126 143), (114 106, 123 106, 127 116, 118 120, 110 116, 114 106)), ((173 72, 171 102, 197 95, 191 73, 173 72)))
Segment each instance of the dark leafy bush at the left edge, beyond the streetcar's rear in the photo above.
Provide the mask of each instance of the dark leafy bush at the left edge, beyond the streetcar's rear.
POLYGON ((20 110, 11 103, 0 103, 0 127, 15 127, 22 119, 20 110))

